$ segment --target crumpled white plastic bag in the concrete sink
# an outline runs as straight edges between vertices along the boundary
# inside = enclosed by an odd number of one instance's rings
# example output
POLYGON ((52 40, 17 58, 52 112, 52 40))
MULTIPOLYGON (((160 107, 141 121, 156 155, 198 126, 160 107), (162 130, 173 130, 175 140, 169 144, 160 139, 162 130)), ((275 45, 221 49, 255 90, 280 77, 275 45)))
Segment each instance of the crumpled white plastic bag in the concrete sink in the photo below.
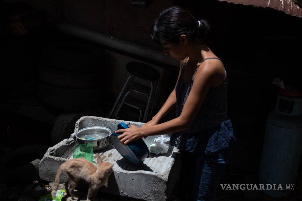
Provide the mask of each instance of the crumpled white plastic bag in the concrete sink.
POLYGON ((165 154, 169 150, 169 135, 161 135, 154 139, 154 143, 149 145, 149 151, 153 154, 165 154))

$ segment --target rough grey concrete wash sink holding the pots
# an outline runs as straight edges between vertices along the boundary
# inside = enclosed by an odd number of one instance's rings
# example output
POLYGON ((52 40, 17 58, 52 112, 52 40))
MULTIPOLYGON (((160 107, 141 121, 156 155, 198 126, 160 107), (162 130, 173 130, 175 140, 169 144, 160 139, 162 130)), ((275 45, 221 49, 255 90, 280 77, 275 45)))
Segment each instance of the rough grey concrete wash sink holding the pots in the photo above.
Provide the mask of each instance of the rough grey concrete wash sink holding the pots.
MULTIPOLYGON (((123 120, 85 116, 76 122, 75 133, 79 129, 90 126, 107 127, 113 132, 120 122, 129 123, 129 121, 123 120)), ((144 123, 130 122, 130 124, 141 127, 144 123)), ((69 139, 65 139, 47 150, 39 164, 41 179, 54 181, 59 166, 68 159, 72 159, 72 151, 78 145, 74 141, 75 133, 69 139)), ((156 137, 158 136, 149 136, 144 141, 149 145, 156 137)), ((171 147, 167 154, 150 154, 150 157, 139 165, 128 162, 111 144, 105 150, 94 153, 94 160, 98 155, 104 161, 114 164, 114 172, 109 176, 108 182, 100 188, 100 191, 135 199, 167 200, 181 168, 179 150, 175 147, 171 147)), ((65 183, 66 180, 67 177, 63 174, 61 182, 65 183)))

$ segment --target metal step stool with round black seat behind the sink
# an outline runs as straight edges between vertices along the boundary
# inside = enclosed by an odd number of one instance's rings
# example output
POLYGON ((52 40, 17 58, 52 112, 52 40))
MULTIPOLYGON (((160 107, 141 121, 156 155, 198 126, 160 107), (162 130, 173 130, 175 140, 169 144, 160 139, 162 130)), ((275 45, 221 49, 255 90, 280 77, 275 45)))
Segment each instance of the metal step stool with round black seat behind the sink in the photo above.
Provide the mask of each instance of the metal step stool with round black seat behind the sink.
POLYGON ((152 115, 149 114, 149 112, 151 111, 152 113, 153 111, 154 101, 158 90, 159 72, 153 67, 140 62, 129 62, 126 65, 126 69, 129 73, 131 73, 131 75, 126 80, 126 83, 124 84, 120 94, 118 95, 117 100, 115 101, 113 108, 108 114, 107 118, 117 118, 117 115, 120 112, 122 105, 125 104, 134 109, 138 109, 140 112, 140 117, 138 121, 146 122, 151 118, 149 116, 152 115), (148 80, 150 82, 150 87, 133 81, 135 77, 148 80), (154 87, 155 82, 156 88, 154 87), (146 96, 148 100, 147 103, 135 97, 129 96, 130 92, 135 92, 146 96), (144 107, 146 108, 143 114, 144 107))

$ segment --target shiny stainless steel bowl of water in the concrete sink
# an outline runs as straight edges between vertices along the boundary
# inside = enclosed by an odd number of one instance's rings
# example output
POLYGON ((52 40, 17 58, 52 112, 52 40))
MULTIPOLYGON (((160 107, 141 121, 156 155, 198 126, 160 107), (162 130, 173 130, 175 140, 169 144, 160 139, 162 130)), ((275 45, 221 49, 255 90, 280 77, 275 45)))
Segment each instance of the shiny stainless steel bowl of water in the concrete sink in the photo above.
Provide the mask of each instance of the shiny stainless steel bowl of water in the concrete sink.
POLYGON ((91 144, 94 151, 99 151, 105 149, 108 146, 110 134, 111 130, 106 127, 86 127, 76 132, 75 140, 78 141, 79 144, 91 144))

